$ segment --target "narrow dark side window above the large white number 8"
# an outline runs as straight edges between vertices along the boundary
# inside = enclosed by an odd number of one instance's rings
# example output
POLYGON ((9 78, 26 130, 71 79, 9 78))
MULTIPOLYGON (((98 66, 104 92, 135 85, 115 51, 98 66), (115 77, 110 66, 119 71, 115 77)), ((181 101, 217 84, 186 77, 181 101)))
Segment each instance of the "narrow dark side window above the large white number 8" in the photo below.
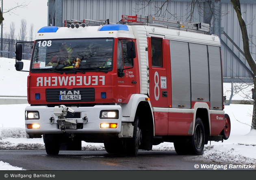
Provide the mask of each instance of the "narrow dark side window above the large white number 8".
POLYGON ((151 37, 151 58, 152 66, 163 67, 162 39, 151 37))

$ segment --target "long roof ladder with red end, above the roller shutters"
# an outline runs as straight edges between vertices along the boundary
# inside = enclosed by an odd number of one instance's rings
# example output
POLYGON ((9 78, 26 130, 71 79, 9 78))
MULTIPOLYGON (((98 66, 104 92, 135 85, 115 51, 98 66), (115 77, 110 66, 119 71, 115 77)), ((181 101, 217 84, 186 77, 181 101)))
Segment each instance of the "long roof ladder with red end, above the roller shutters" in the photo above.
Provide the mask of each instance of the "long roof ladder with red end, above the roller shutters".
POLYGON ((182 22, 172 19, 153 17, 152 15, 122 15, 121 22, 129 25, 147 24, 150 26, 161 26, 165 28, 174 28, 201 33, 210 32, 210 24, 201 22, 182 22))

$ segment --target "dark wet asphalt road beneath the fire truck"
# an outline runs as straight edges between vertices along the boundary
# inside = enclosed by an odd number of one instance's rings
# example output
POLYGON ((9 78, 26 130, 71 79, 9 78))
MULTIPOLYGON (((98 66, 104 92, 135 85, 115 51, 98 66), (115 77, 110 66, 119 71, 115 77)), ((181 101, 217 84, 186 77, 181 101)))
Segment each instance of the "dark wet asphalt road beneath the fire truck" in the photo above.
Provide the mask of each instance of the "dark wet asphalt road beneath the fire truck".
POLYGON ((49 156, 45 150, 0 150, 0 160, 26 170, 202 170, 198 156, 175 151, 139 151, 137 157, 106 151, 60 151, 49 156))

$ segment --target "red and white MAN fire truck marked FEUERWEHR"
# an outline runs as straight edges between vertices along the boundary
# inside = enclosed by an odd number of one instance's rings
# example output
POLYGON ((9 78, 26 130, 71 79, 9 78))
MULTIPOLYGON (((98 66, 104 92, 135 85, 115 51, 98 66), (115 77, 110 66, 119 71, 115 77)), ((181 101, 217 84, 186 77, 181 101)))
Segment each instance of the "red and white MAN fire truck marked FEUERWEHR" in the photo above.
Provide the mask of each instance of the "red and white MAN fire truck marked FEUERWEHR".
MULTIPOLYGON (((221 42, 210 25, 122 15, 46 26, 33 42, 25 108, 27 138, 47 154, 81 150, 137 156, 163 142, 203 153, 230 136, 224 112, 221 42)), ((15 68, 24 71, 22 43, 15 68)))

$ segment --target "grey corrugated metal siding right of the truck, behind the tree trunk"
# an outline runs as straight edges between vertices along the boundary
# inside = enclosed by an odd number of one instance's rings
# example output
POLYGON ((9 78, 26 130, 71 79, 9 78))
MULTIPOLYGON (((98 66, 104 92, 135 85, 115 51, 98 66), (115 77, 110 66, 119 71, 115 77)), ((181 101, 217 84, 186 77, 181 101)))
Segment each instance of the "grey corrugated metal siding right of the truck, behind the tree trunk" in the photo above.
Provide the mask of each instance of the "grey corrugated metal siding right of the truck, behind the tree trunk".
MULTIPOLYGON (((231 3, 221 3, 221 10, 228 13, 227 15, 221 17, 221 27, 224 28, 224 31, 230 36, 230 38, 243 50, 243 39, 239 26, 239 22, 236 16, 236 12, 234 11, 233 5, 231 3)), ((256 12, 256 4, 241 4, 241 12, 243 18, 248 26, 247 32, 252 37, 251 44, 251 53, 256 60, 256 38, 255 38, 255 12, 256 12)), ((232 43, 226 38, 224 34, 221 34, 221 39, 228 45, 228 47, 239 57, 240 60, 249 68, 249 65, 243 55, 239 52, 239 50, 232 45, 232 43)), ((249 73, 243 68, 241 63, 239 63, 234 56, 228 51, 227 48, 222 46, 222 60, 223 60, 223 77, 251 77, 249 73)))

